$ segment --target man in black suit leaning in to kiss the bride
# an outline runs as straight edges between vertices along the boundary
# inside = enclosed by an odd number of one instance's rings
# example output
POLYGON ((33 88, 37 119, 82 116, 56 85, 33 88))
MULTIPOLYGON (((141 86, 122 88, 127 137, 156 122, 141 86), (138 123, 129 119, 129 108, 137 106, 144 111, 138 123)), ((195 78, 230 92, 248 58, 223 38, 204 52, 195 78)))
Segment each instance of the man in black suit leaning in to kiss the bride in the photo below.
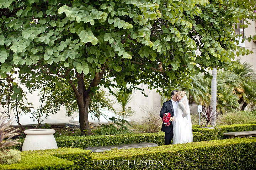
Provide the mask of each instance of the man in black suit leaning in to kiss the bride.
MULTIPOLYGON (((176 110, 177 110, 177 106, 178 106, 178 100, 176 97, 176 93, 178 92, 178 90, 173 90, 171 92, 171 100, 164 102, 161 111, 160 111, 160 117, 164 117, 165 113, 170 112, 171 113, 171 117, 173 117, 174 115, 176 115, 176 110)), ((170 122, 171 124, 169 126, 165 126, 165 124, 162 124, 162 129, 161 131, 165 132, 165 145, 170 145, 171 144, 171 140, 173 138, 173 129, 172 129, 172 121, 170 122)))

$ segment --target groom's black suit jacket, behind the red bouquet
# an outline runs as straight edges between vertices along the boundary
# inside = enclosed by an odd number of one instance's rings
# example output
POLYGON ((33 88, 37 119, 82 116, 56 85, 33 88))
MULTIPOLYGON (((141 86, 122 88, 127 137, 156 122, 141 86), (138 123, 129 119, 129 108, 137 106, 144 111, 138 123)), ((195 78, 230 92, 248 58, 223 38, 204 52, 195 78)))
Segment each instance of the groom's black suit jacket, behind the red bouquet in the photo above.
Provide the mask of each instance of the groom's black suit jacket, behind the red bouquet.
MULTIPOLYGON (((160 117, 164 117, 164 114, 165 113, 168 113, 170 112, 171 113, 171 117, 174 116, 174 109, 173 109, 173 106, 172 106, 172 102, 171 100, 167 101, 167 102, 164 102, 162 108, 161 108, 161 111, 160 111, 160 117)), ((164 131, 166 133, 169 133, 172 129, 172 121, 170 122, 171 124, 169 126, 165 126, 165 124, 163 123, 162 124, 162 128, 161 128, 161 131, 164 131)))

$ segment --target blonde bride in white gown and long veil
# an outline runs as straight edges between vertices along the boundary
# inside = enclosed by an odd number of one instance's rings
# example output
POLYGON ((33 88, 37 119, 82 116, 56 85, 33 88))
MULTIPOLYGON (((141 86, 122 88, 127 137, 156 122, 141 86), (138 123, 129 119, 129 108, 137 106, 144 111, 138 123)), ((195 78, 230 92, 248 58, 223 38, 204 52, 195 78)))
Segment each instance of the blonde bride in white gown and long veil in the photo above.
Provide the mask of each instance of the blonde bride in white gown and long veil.
POLYGON ((178 91, 178 107, 172 121, 174 138, 172 144, 193 142, 190 107, 185 91, 178 91))

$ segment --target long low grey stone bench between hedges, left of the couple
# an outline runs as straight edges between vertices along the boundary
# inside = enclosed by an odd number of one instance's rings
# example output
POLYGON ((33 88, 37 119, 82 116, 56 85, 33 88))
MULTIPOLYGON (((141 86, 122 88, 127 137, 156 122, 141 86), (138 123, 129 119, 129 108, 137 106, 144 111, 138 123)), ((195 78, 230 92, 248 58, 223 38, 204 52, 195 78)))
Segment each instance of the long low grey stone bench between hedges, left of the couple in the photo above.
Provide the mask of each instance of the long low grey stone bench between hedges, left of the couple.
POLYGON ((90 150, 92 152, 103 152, 103 151, 110 151, 111 149, 129 149, 129 148, 144 148, 144 147, 155 147, 158 146, 155 143, 130 143, 130 144, 122 144, 122 145, 112 145, 112 146, 98 146, 98 147, 88 147, 85 148, 86 150, 90 150))

